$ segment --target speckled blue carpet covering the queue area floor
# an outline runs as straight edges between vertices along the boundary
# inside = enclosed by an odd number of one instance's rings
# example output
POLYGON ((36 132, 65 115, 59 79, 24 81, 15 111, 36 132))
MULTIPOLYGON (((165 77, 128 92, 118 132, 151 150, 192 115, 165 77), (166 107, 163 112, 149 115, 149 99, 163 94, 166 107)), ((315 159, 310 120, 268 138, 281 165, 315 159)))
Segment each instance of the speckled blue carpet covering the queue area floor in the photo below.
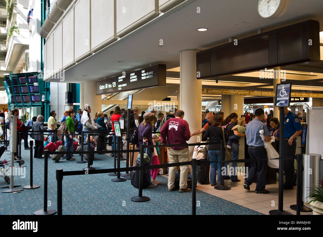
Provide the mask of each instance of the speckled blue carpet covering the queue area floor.
MULTIPOLYGON (((26 177, 15 176, 16 185, 29 185, 30 151, 22 150, 22 159, 27 165, 26 177)), ((3 159, 9 159, 6 152, 3 159)), ((96 169, 113 168, 113 158, 107 155, 95 155, 93 167, 96 169)), ((79 155, 74 161, 61 160, 55 163, 48 158, 48 208, 57 209, 57 181, 56 169, 64 171, 81 170, 86 164, 78 164, 79 155)), ((44 159, 34 161, 34 184, 40 188, 23 190, 20 193, 0 193, 0 213, 2 215, 26 215, 43 209, 44 203, 44 159), (14 209, 10 203, 15 202, 14 209)), ((15 163, 16 165, 17 163, 15 163)), ((126 163, 121 162, 121 167, 126 163)), ((167 178, 157 176, 161 182, 155 188, 143 189, 143 196, 150 197, 148 202, 132 202, 133 196, 138 196, 138 189, 133 187, 130 180, 125 182, 111 182, 114 177, 108 174, 90 174, 64 176, 63 178, 63 214, 192 214, 192 192, 168 192, 167 178)), ((0 186, 7 183, 0 177, 0 186)), ((4 189, 0 189, 3 191, 4 189)), ((261 213, 245 208, 233 202, 196 190, 196 214, 213 215, 260 215, 261 213)))

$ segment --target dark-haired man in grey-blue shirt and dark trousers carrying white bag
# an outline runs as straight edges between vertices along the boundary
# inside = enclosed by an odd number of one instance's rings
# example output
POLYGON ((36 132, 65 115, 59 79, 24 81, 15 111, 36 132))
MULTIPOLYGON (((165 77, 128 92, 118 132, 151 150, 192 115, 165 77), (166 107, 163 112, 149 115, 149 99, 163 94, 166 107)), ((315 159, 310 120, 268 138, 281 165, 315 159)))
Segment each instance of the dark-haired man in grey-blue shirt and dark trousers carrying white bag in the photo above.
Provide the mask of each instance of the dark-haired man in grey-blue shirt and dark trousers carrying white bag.
POLYGON ((269 136, 268 129, 264 120, 264 110, 257 109, 255 111, 255 118, 250 121, 245 128, 246 140, 248 144, 248 153, 251 159, 264 159, 266 161, 256 161, 251 163, 248 177, 245 179, 243 185, 245 189, 250 190, 250 184, 254 182, 255 175, 257 175, 257 185, 255 193, 267 194, 269 191, 266 187, 266 173, 267 173, 267 152, 264 146, 264 141, 260 137, 260 130, 264 130, 265 141, 269 142, 271 137, 269 136))

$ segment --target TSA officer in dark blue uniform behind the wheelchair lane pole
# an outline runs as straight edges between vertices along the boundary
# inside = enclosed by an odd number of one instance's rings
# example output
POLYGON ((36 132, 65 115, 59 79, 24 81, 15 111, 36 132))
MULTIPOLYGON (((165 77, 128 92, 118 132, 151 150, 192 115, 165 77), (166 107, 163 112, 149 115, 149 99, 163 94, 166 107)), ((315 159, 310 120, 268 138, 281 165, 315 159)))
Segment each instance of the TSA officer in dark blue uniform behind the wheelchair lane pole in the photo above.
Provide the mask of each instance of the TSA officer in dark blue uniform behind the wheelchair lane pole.
MULTIPOLYGON (((299 117, 296 114, 290 112, 287 107, 279 107, 278 109, 284 109, 284 156, 292 156, 296 153, 296 139, 302 132, 302 125, 299 121, 299 117)), ((274 136, 277 136, 279 129, 274 132, 274 136)), ((286 176, 286 182, 284 183, 284 189, 293 189, 294 181, 294 160, 284 160, 284 172, 286 176)))

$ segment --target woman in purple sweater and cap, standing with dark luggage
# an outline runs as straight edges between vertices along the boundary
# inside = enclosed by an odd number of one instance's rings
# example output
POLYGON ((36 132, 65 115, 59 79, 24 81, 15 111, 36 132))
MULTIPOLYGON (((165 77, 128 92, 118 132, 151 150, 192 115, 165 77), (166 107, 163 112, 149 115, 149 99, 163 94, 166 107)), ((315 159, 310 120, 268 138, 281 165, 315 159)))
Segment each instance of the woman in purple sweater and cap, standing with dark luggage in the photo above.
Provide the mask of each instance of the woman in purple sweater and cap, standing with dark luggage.
MULTIPOLYGON (((141 145, 144 143, 145 145, 148 142, 148 145, 153 145, 152 143, 152 128, 154 124, 154 114, 153 113, 145 113, 143 115, 143 121, 139 124, 138 127, 138 145, 139 149, 141 148, 141 145)), ((151 148, 146 148, 147 149, 147 154, 150 157, 149 163, 147 165, 151 165, 151 160, 152 160, 152 152, 154 150, 153 147, 151 148)), ((146 150, 144 150, 146 153, 146 150)), ((147 175, 146 175, 146 183, 148 188, 156 187, 157 184, 151 182, 150 178, 150 170, 147 170, 147 175)))

